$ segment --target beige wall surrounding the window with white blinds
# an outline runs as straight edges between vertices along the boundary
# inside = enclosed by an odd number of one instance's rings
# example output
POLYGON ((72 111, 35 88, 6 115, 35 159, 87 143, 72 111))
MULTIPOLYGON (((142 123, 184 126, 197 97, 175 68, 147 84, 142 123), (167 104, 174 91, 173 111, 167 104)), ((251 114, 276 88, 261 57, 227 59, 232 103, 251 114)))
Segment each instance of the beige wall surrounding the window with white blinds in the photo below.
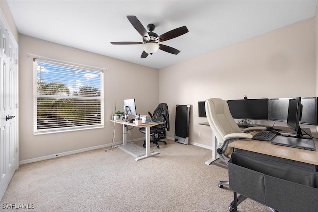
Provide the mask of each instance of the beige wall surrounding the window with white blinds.
MULTIPOLYGON (((110 144, 113 123, 109 120, 117 110, 123 110, 123 99, 135 98, 137 112, 147 114, 158 105, 158 70, 58 45, 36 38, 20 35, 20 161, 110 144), (107 68, 104 73, 104 120, 102 129, 33 135, 33 57, 28 53, 57 60, 70 61, 95 67, 107 68), (139 79, 140 84, 131 83, 139 79), (151 82, 147 83, 147 82, 151 82)), ((122 126, 116 126, 115 141, 122 139, 122 126)), ((133 129, 131 139, 142 138, 138 129, 133 129)))

